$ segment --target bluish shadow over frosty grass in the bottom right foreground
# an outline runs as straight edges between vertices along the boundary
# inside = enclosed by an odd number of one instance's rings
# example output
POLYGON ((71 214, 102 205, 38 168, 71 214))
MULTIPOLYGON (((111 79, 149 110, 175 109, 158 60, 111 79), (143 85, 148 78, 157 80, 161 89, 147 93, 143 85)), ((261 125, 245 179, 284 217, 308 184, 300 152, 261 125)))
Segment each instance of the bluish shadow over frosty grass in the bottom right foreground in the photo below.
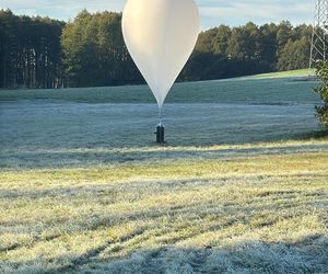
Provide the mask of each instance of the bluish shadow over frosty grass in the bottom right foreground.
POLYGON ((132 252, 127 258, 110 254, 109 262, 99 259, 108 244, 75 259, 62 272, 86 273, 327 273, 328 238, 313 235, 296 242, 241 241, 221 248, 177 248, 132 252))

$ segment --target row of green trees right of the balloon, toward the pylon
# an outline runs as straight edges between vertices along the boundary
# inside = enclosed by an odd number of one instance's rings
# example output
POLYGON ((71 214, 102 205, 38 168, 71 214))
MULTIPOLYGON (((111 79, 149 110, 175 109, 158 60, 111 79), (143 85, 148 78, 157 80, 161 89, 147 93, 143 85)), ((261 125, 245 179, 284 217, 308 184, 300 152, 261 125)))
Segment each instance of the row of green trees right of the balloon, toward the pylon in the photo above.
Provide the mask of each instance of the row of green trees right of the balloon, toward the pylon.
POLYGON ((221 25, 202 32, 183 72, 184 80, 220 79, 308 68, 311 25, 290 22, 221 25))

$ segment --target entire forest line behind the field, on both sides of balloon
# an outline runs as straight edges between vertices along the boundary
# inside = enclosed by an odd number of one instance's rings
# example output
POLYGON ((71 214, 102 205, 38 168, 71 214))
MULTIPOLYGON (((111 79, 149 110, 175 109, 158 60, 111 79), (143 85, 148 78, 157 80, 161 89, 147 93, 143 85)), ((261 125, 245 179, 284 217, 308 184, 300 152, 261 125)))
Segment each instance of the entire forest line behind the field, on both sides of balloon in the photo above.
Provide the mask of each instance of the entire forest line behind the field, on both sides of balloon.
MULTIPOLYGON (((143 83, 125 46, 120 22, 121 13, 115 12, 83 10, 66 23, 0 10, 0 88, 143 83)), ((307 68, 311 34, 311 25, 293 26, 288 21, 201 32, 178 81, 307 68)))

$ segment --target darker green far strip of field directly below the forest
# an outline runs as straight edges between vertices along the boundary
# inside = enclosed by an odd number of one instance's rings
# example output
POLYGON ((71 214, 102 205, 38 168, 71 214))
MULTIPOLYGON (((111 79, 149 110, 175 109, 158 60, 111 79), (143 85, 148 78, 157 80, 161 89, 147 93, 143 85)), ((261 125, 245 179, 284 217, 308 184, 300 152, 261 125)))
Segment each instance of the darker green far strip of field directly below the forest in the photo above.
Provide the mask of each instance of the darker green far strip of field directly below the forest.
MULTIPOLYGON (((307 71, 296 70, 254 78, 177 83, 169 92, 166 105, 176 103, 314 104, 319 101, 312 92, 317 81, 307 79, 307 71)), ((0 102, 23 100, 89 104, 155 103, 154 96, 145 85, 0 91, 0 102)))

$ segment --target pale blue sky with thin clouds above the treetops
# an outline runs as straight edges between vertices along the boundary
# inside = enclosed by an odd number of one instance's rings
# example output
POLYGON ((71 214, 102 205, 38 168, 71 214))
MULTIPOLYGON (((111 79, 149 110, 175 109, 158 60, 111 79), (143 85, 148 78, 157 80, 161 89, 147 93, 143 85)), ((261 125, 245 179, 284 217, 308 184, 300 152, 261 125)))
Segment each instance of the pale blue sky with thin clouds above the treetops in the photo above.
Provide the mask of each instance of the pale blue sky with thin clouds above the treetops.
MULTIPOLYGON (((16 14, 47 15, 68 21, 79 11, 121 11, 127 0, 0 0, 0 8, 16 14)), ((178 0, 177 0, 178 1, 178 0)), ((202 28, 220 24, 242 25, 289 20, 294 25, 312 23, 315 0, 196 0, 202 28)))

